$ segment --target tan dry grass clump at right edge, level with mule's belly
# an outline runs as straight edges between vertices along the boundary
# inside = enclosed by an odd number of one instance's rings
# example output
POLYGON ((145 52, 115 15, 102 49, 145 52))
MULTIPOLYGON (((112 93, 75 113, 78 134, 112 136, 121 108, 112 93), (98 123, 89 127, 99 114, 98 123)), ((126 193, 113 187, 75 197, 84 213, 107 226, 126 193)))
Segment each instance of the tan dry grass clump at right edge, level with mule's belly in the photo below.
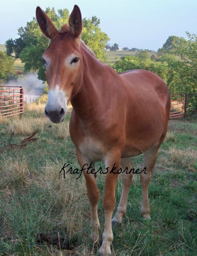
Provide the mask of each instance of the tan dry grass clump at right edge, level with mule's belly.
POLYGON ((193 148, 181 150, 176 147, 170 147, 169 154, 172 165, 179 165, 190 171, 195 171, 194 165, 197 161, 197 150, 193 148))

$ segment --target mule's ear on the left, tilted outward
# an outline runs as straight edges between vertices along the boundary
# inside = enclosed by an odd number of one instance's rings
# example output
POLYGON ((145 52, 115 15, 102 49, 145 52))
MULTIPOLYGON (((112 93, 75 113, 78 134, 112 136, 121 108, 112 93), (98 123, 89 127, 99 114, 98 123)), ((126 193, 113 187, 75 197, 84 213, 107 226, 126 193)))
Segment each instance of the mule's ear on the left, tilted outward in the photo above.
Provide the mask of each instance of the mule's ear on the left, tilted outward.
POLYGON ((51 19, 43 12, 40 6, 36 8, 36 18, 37 23, 42 30, 42 33, 47 37, 52 39, 57 33, 57 29, 53 25, 51 19))

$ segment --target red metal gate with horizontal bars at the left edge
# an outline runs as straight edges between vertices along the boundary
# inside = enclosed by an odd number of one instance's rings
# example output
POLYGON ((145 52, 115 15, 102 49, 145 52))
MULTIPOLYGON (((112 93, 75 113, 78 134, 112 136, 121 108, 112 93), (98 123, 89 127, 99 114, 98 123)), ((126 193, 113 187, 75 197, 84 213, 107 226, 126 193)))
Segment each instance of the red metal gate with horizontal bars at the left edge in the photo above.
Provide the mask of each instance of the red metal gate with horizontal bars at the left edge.
POLYGON ((0 117, 24 113, 22 86, 0 86, 0 117))

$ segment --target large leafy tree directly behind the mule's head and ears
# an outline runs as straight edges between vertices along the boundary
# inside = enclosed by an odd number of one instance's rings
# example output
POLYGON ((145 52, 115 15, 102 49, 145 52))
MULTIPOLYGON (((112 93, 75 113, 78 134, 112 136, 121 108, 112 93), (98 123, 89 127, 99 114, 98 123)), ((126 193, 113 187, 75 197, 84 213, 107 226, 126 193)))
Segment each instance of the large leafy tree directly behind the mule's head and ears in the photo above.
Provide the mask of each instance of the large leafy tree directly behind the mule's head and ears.
MULTIPOLYGON (((45 13, 51 18, 56 28, 68 23, 69 11, 67 9, 59 9, 57 13, 54 8, 46 8, 45 13)), ((82 40, 94 51, 97 58, 101 61, 105 56, 105 44, 109 41, 106 33, 102 32, 100 27, 100 19, 93 16, 92 19, 83 19, 82 40)), ((37 71, 38 78, 42 81, 46 80, 45 68, 41 60, 42 53, 49 45, 49 40, 42 35, 37 24, 37 20, 33 18, 23 28, 18 29, 19 38, 6 41, 7 53, 15 53, 15 58, 21 59, 25 63, 25 71, 37 71)))

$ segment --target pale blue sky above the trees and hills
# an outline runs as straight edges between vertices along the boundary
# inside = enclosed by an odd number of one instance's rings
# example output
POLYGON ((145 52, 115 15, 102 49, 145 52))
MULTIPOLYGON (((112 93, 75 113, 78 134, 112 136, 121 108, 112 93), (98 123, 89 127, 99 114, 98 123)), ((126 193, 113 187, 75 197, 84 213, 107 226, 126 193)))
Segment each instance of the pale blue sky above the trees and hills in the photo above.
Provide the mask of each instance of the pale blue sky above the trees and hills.
POLYGON ((0 43, 17 38, 17 29, 35 17, 37 6, 67 8, 71 13, 75 4, 83 18, 100 18, 109 43, 121 47, 157 51, 169 35, 197 34, 197 0, 2 0, 0 43))

